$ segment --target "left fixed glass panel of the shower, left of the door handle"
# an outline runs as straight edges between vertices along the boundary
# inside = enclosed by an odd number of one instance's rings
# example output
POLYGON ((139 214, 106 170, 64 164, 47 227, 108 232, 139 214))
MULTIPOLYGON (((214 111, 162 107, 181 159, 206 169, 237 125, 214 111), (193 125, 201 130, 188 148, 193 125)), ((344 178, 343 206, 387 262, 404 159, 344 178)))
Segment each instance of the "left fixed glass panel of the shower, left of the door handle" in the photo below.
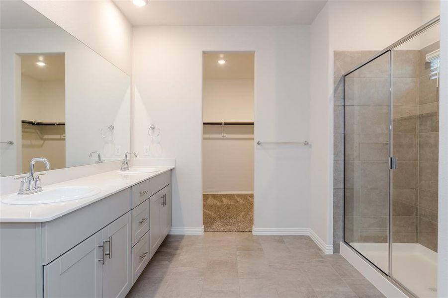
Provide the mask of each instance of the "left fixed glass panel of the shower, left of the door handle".
MULTIPOLYGON (((363 52, 365 60, 375 52, 363 52)), ((345 76, 344 239, 389 273, 390 52, 345 76)))

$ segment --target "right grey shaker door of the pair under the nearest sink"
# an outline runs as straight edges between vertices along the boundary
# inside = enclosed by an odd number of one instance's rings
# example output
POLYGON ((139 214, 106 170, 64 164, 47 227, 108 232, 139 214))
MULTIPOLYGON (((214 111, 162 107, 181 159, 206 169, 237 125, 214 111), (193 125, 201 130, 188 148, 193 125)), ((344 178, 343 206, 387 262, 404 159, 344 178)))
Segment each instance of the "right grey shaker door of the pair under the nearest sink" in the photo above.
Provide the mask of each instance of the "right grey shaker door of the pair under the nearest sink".
POLYGON ((105 254, 103 297, 125 297, 132 286, 130 212, 103 228, 102 240, 105 254))

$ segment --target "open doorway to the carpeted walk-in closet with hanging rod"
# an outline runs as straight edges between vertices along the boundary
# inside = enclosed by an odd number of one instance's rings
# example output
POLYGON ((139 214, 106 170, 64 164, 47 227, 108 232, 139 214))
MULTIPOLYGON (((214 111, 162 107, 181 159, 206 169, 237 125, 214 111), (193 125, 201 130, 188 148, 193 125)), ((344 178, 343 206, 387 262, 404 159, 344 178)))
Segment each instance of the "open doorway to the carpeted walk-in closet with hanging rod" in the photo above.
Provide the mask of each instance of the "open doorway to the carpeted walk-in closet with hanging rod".
POLYGON ((202 204, 205 231, 252 231, 254 65, 254 52, 203 53, 202 204))

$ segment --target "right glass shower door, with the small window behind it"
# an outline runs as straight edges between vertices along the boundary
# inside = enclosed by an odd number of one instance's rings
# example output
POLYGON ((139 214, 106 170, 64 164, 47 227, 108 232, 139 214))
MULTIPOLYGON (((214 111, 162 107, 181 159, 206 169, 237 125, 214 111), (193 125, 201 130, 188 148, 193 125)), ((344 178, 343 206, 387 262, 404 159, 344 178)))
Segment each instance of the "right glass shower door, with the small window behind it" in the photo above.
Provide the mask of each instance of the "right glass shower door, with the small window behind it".
POLYGON ((418 297, 437 297, 439 25, 391 51, 391 268, 418 297))

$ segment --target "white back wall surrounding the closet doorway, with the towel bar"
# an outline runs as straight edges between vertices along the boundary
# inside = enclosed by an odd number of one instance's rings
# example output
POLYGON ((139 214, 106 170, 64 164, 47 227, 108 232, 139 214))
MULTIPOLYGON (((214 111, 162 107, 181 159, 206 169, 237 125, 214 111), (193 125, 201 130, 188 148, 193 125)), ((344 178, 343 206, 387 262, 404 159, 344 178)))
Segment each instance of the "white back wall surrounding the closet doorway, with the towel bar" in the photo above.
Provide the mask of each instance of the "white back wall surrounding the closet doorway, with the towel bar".
MULTIPOLYGON (((255 51, 255 139, 309 138, 309 27, 135 27, 133 149, 162 131, 176 157, 173 227, 202 227, 202 52, 255 51)), ((255 227, 309 227, 309 155, 303 146, 255 148, 255 227)))

